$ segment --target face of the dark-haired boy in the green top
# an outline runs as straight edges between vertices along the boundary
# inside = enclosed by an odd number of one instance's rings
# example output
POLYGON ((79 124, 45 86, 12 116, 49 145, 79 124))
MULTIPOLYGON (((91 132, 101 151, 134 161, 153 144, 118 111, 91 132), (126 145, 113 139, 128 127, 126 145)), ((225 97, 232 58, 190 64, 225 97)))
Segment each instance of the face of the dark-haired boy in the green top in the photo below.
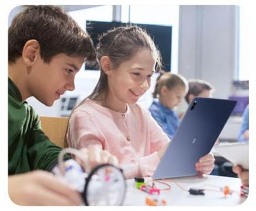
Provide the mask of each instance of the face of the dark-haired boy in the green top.
POLYGON ((74 79, 84 58, 58 54, 50 63, 38 58, 28 74, 28 92, 46 106, 52 106, 65 91, 75 89, 74 79))

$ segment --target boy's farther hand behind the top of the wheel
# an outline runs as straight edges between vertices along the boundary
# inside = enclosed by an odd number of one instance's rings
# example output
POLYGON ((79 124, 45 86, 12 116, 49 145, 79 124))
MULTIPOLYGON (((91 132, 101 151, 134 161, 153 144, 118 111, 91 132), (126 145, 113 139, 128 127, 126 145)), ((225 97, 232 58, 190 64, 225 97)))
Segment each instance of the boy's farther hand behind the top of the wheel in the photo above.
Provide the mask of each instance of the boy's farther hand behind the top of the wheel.
MULTIPOLYGON (((107 150, 102 150, 99 145, 90 145, 87 148, 81 148, 79 151, 88 157, 90 170, 100 164, 108 163, 116 166, 119 164, 116 156, 110 154, 107 150)), ((76 157, 76 161, 86 169, 85 162, 81 161, 78 157, 76 157)))

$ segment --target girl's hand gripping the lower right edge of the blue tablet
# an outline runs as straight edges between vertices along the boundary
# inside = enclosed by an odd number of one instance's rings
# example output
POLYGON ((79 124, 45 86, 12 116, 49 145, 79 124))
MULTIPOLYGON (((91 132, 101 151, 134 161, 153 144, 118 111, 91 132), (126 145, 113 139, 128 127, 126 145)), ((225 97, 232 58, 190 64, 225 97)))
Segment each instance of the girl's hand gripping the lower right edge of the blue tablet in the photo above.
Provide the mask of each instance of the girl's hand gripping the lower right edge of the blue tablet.
POLYGON ((198 171, 198 175, 210 174, 213 171, 214 162, 215 158, 211 153, 201 157, 196 163, 196 170, 198 171))

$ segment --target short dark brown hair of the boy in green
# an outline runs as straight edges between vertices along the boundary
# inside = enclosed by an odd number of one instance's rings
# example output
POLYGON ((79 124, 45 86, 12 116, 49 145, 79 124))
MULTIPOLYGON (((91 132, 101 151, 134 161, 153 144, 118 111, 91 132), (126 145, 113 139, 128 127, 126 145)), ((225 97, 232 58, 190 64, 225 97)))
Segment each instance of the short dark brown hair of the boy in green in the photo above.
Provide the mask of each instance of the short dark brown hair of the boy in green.
POLYGON ((68 13, 58 6, 25 6, 12 20, 8 29, 8 62, 15 63, 22 56, 26 41, 35 39, 45 63, 63 53, 95 61, 93 42, 68 13))

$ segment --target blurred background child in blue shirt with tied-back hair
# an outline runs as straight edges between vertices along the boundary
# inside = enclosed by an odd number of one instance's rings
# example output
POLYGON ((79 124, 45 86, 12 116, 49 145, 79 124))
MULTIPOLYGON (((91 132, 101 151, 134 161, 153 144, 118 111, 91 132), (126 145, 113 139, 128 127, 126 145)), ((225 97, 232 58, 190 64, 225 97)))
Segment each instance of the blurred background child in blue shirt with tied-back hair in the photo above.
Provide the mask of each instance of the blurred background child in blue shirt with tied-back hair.
POLYGON ((187 80, 180 74, 166 72, 156 81, 149 111, 169 139, 173 138, 180 120, 174 111, 187 93, 187 80))

